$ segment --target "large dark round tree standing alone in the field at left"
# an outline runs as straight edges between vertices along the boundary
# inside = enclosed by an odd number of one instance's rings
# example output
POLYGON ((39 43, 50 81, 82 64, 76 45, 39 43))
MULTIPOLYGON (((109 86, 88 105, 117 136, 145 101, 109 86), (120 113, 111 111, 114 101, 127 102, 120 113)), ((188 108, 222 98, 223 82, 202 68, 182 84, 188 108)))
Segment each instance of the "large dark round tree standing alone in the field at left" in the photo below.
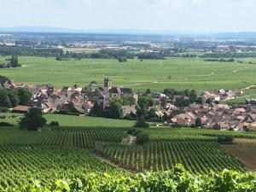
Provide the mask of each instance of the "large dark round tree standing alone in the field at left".
POLYGON ((46 119, 39 108, 31 108, 25 116, 20 119, 20 128, 26 128, 28 131, 38 131, 40 127, 46 125, 46 119))

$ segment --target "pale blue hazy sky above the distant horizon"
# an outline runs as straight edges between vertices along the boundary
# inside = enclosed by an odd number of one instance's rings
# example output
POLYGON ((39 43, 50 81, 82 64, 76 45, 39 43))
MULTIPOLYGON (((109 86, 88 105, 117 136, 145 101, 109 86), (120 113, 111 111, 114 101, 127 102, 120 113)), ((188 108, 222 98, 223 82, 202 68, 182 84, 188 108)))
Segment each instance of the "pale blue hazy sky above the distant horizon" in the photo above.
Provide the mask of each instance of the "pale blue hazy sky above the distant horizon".
POLYGON ((0 27, 256 32, 256 0, 0 0, 0 27))

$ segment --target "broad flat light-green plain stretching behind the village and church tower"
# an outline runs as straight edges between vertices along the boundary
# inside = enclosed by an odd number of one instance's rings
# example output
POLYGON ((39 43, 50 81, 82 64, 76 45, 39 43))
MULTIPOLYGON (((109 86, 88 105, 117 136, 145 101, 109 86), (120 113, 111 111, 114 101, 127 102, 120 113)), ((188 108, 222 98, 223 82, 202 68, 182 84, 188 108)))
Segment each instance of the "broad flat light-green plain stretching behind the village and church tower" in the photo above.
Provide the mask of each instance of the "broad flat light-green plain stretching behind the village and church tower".
MULTIPOLYGON (((55 58, 20 56, 23 67, 0 69, 0 74, 16 82, 28 84, 64 85, 102 83, 109 77, 113 84, 134 90, 164 90, 165 88, 214 90, 236 89, 255 84, 256 59, 240 59, 244 63, 209 62, 201 58, 167 58, 166 60, 116 60, 84 59, 55 61, 55 58), (241 82, 246 82, 242 84, 241 82)), ((0 58, 4 62, 5 57, 0 58)), ((253 90, 252 90, 253 91, 253 90)), ((253 93, 255 94, 256 91, 253 93)), ((251 94, 253 94, 251 93, 251 94)))

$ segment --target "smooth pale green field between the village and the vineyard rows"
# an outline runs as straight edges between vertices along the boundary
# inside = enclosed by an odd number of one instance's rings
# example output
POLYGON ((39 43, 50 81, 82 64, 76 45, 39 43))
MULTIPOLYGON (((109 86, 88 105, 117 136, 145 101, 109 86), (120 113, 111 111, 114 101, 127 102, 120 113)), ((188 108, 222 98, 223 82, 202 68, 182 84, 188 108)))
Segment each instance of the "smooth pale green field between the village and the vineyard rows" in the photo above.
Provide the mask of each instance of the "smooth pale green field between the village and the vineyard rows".
MULTIPOLYGON (((19 113, 0 113, 0 116, 11 117, 15 115, 15 118, 0 119, 0 122, 9 122, 17 125, 22 114, 19 113)), ((95 117, 80 117, 72 115, 59 115, 59 114, 45 114, 44 118, 47 122, 58 121, 61 126, 116 126, 116 127, 127 127, 133 126, 134 121, 122 120, 122 119, 104 119, 95 117)))

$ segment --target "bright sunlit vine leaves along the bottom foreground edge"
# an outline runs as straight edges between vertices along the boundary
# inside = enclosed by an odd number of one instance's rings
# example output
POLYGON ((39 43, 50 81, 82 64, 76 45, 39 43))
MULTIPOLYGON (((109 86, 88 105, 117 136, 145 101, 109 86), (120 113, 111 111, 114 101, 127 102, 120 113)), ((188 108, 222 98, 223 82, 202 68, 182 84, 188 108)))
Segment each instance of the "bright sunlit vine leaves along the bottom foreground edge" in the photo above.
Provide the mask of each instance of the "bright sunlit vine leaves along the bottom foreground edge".
POLYGON ((256 173, 210 172, 195 175, 177 164, 172 171, 145 172, 136 175, 98 176, 94 173, 85 177, 57 180, 52 186, 42 187, 38 181, 26 183, 20 192, 255 192, 256 173))

